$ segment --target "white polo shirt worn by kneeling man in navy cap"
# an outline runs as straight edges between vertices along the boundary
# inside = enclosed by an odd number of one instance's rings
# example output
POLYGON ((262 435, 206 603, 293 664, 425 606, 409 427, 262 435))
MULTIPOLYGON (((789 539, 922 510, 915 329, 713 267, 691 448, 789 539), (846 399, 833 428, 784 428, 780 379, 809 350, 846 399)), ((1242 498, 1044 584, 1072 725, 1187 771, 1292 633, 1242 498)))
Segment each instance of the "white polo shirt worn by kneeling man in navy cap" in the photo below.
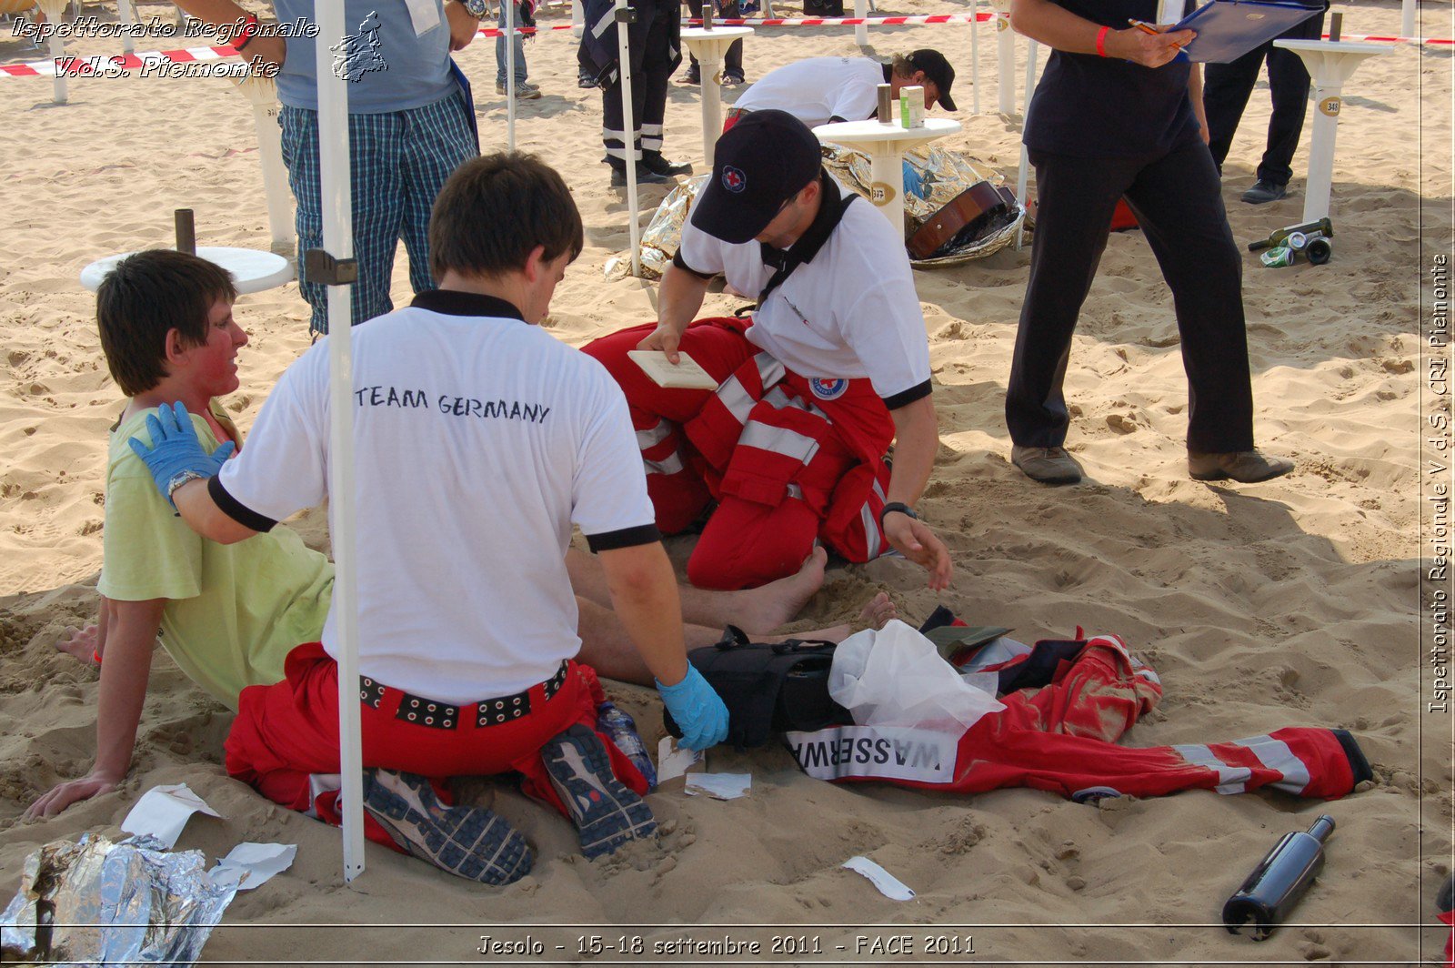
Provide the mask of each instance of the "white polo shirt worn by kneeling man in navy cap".
MULTIPOLYGON (((828 182, 847 197, 838 180, 828 182)), ((825 195, 822 204, 826 210, 838 201, 825 195)), ((761 243, 730 245, 691 218, 682 226, 678 256, 700 275, 722 272, 749 297, 776 271, 762 261, 761 243)), ((812 261, 768 294, 752 316, 748 339, 802 377, 869 377, 892 406, 911 390, 922 389, 918 396, 927 396, 930 339, 911 272, 904 239, 858 198, 812 261)))

